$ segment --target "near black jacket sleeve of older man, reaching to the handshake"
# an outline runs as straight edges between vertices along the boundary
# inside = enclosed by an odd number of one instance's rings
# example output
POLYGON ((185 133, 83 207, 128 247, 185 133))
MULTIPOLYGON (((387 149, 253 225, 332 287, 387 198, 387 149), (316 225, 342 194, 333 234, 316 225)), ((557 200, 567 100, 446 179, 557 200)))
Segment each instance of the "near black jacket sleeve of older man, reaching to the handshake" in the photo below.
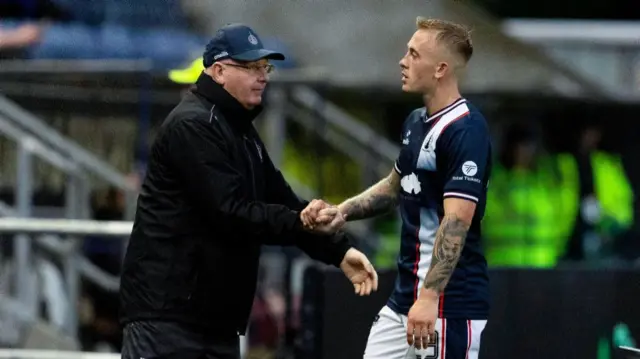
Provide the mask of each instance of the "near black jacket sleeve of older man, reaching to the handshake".
POLYGON ((176 119, 165 133, 171 166, 184 181, 188 196, 199 210, 233 230, 291 243, 306 233, 299 213, 281 204, 247 198, 242 174, 226 151, 217 124, 198 119, 176 119))

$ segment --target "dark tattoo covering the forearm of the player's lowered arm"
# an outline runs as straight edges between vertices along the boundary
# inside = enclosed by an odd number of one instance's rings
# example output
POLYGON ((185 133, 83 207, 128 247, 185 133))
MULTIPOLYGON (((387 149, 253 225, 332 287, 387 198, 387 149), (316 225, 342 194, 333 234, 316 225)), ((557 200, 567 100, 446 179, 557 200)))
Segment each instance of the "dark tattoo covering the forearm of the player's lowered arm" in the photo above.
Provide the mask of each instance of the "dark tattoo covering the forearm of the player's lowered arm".
POLYGON ((469 224, 455 214, 443 218, 433 245, 431 266, 424 281, 426 289, 432 289, 436 293, 444 291, 460 259, 468 230, 469 224))

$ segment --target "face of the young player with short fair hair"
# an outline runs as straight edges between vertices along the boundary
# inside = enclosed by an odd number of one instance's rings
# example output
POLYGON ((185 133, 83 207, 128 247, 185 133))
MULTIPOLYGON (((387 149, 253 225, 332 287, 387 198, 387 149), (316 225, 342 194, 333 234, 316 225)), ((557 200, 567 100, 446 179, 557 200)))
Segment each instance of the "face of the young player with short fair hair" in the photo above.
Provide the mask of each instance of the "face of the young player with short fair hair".
POLYGON ((416 31, 407 44, 407 53, 400 60, 402 90, 405 92, 430 93, 437 80, 444 76, 447 67, 442 48, 436 41, 433 30, 416 31))

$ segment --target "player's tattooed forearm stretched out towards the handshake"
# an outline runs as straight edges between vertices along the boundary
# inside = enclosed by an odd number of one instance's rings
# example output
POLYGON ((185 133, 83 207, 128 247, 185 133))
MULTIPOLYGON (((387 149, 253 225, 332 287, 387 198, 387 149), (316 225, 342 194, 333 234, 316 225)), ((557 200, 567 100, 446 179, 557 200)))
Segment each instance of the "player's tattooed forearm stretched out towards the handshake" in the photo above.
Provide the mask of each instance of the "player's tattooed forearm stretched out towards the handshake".
POLYGON ((342 202, 338 208, 347 215, 348 221, 375 217, 396 208, 399 191, 400 176, 392 169, 389 176, 361 194, 342 202))

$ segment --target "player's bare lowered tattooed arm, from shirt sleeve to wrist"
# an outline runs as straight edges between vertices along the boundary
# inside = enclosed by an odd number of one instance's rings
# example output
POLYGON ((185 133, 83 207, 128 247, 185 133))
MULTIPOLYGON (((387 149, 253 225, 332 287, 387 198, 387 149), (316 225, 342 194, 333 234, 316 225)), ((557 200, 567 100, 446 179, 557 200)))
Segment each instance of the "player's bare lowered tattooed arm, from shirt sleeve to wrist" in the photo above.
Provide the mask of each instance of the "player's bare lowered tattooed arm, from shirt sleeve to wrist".
POLYGON ((421 295, 437 298, 444 291, 460 259, 475 209, 475 202, 445 198, 445 214, 436 233, 431 266, 421 295))

